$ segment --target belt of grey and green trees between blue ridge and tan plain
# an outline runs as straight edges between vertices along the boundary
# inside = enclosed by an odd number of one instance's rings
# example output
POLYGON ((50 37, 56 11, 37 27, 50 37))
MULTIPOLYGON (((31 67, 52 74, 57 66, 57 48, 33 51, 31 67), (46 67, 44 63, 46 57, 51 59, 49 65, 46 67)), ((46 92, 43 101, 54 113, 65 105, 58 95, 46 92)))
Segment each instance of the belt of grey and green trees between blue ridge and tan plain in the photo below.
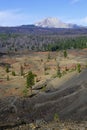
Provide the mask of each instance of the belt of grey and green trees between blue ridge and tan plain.
POLYGON ((86 47, 87 36, 0 34, 0 49, 5 52, 57 51, 86 47))

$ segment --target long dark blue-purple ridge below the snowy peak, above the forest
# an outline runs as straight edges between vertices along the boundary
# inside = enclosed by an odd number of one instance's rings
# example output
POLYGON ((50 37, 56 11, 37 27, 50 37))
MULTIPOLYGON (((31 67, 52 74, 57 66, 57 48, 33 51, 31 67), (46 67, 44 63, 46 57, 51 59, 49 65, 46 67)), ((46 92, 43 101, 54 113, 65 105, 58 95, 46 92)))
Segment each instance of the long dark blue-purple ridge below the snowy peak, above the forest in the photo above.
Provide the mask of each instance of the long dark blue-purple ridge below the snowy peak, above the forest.
POLYGON ((22 34, 87 34, 87 28, 47 28, 35 25, 21 25, 15 27, 0 27, 0 33, 22 33, 22 34))

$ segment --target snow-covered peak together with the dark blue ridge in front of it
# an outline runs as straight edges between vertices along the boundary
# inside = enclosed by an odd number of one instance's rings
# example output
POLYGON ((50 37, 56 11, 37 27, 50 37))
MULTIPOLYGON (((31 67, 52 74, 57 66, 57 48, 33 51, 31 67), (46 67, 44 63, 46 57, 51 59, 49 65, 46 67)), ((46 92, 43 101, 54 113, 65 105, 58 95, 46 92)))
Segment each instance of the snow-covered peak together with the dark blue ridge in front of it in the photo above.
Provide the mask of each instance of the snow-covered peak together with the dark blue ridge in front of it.
POLYGON ((0 33, 32 35, 83 35, 87 34, 87 27, 64 23, 57 18, 48 17, 35 24, 20 25, 15 27, 0 26, 0 33))

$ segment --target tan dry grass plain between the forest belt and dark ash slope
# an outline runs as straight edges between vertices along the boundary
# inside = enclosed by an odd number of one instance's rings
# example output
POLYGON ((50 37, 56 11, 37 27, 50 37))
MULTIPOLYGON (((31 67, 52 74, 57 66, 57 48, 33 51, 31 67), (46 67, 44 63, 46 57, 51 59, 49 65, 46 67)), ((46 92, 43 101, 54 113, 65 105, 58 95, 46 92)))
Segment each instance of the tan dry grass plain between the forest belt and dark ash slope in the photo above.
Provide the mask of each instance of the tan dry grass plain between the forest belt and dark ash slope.
MULTIPOLYGON (((86 50, 85 50, 86 51, 86 50)), ((4 56, 0 58, 0 63, 9 64, 10 72, 6 73, 5 66, 0 65, 0 97, 9 95, 22 95, 22 91, 26 86, 26 75, 28 71, 32 70, 33 73, 37 75, 39 81, 50 79, 57 72, 57 63, 62 66, 69 66, 72 64, 77 64, 78 62, 83 63, 83 61, 78 61, 76 59, 76 52, 69 52, 68 58, 64 58, 60 52, 51 52, 51 58, 48 60, 49 52, 31 52, 27 55, 19 56, 4 56), (25 76, 20 75, 20 66, 24 68, 25 76), (44 71, 44 65, 46 65, 46 71, 44 71), (16 76, 12 76, 12 71, 15 71, 16 76), (7 75, 9 75, 9 81, 7 81, 7 75)), ((82 53, 83 54, 83 53, 82 53)), ((54 87, 58 87, 64 81, 69 80, 76 72, 67 73, 67 76, 63 76, 61 79, 54 79, 50 83, 54 87)), ((36 82, 37 83, 37 82, 36 82)))

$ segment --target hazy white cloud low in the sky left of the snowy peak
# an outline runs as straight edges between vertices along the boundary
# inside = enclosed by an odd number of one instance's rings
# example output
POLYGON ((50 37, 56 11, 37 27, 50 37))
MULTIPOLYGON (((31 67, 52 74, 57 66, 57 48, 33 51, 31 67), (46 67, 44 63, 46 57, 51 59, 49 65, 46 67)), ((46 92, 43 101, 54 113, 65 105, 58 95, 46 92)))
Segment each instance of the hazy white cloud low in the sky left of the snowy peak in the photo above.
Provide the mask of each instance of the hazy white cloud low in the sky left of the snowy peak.
POLYGON ((21 13, 19 9, 0 11, 0 26, 30 24, 32 19, 31 15, 21 13))

